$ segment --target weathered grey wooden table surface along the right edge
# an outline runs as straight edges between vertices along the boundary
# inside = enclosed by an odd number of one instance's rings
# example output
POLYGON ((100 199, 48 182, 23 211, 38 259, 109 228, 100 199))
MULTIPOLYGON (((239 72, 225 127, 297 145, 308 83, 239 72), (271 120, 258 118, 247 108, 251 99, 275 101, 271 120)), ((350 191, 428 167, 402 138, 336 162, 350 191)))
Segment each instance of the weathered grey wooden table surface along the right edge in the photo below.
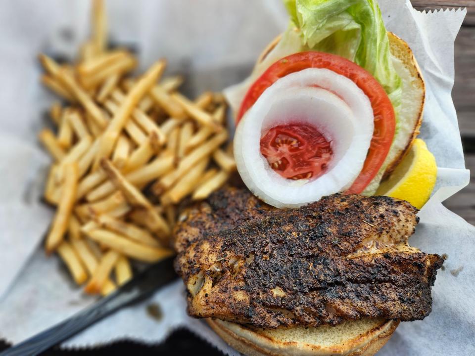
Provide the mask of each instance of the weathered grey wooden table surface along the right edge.
POLYGON ((471 170, 469 186, 449 198, 444 205, 475 225, 475 0, 411 0, 414 7, 433 10, 467 7, 464 25, 455 41, 455 85, 452 91, 465 164, 471 170))

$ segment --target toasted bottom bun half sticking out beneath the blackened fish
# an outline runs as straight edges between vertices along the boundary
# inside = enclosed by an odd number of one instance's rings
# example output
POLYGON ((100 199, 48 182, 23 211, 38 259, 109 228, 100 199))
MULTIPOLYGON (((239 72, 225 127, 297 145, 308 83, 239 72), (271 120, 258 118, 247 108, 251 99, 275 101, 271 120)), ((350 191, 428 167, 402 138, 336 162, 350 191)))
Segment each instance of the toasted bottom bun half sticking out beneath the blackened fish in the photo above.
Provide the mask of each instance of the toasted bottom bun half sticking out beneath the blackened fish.
POLYGON ((231 347, 248 356, 330 356, 376 354, 389 340, 399 321, 360 319, 336 326, 250 329, 218 319, 211 328, 231 347))

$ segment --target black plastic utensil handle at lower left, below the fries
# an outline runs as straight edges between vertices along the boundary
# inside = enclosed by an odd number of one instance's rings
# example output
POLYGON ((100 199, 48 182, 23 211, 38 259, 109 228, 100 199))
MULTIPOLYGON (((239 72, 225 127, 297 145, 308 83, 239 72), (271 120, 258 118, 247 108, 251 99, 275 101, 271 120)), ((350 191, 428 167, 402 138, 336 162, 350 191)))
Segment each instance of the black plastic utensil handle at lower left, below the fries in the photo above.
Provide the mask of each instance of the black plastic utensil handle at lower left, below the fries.
POLYGON ((148 267, 114 293, 49 329, 3 351, 0 356, 38 355, 76 335, 107 315, 146 299, 152 292, 175 279, 177 275, 173 269, 173 259, 174 257, 169 257, 148 267))

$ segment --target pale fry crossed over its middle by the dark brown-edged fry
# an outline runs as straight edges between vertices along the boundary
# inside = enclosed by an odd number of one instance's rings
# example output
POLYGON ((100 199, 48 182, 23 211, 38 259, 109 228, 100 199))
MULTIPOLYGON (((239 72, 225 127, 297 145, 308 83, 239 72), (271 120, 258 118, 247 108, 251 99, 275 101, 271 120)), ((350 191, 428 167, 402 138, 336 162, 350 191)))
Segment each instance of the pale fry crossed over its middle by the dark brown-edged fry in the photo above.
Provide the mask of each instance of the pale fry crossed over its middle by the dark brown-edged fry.
MULTIPOLYGON (((142 186, 154 179, 160 178, 173 168, 172 156, 157 157, 149 164, 125 175, 125 178, 137 187, 142 186)), ((86 200, 95 201, 112 193, 115 189, 111 181, 105 181, 86 196, 86 200)))

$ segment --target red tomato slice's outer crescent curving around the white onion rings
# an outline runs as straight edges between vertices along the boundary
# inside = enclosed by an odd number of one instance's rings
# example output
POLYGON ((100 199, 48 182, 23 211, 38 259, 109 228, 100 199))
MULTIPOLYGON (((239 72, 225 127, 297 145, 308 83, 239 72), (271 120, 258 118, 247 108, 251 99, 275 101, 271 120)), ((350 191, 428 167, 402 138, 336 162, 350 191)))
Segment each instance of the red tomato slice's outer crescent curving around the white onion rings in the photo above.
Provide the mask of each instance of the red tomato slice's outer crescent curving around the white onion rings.
POLYGON ((257 101, 265 89, 287 74, 306 68, 327 68, 351 79, 369 97, 375 117, 375 131, 363 169, 347 194, 361 193, 380 170, 391 147, 396 129, 394 108, 380 83, 359 65, 334 54, 323 52, 300 52, 291 54, 271 65, 249 88, 236 118, 237 123, 257 101))

